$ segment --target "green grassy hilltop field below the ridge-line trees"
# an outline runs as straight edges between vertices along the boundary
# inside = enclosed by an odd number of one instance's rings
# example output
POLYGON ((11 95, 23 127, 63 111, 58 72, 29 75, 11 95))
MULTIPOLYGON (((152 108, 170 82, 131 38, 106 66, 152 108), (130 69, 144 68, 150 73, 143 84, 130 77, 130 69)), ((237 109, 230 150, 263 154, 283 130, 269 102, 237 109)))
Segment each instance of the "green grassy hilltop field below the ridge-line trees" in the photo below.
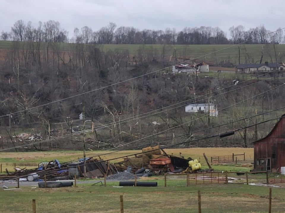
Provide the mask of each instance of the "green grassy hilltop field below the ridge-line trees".
MULTIPOLYGON (((29 46, 27 42, 12 42, 12 41, 0 41, 0 49, 11 49, 13 46, 29 46)), ((54 47, 59 48, 61 51, 75 51, 76 45, 74 43, 50 43, 49 49, 52 50, 54 47)), ((87 44, 86 51, 88 51, 88 47, 91 44, 87 44)), ((164 60, 169 60, 170 56, 175 57, 175 49, 176 55, 179 59, 191 59, 200 57, 202 55, 218 51, 220 49, 224 49, 230 47, 232 45, 151 45, 151 44, 102 44, 100 47, 104 51, 128 51, 131 56, 138 56, 140 54, 151 54, 157 60, 162 59, 164 55, 164 60), (164 54, 163 54, 164 53, 164 54)), ((240 45, 240 63, 249 63, 249 59, 251 63, 259 63, 261 58, 262 46, 264 49, 264 56, 262 61, 275 62, 276 57, 278 62, 283 62, 285 57, 285 45, 275 45, 270 44, 259 45, 259 44, 246 44, 240 45), (246 54, 247 51, 247 54, 246 54), (276 57, 275 57, 276 52, 276 57)), ((47 44, 41 43, 40 49, 46 50, 47 44)), ((201 61, 211 62, 214 64, 222 64, 230 62, 232 64, 238 64, 238 46, 234 46, 229 49, 225 49, 223 51, 211 54, 206 57, 199 58, 201 61)))

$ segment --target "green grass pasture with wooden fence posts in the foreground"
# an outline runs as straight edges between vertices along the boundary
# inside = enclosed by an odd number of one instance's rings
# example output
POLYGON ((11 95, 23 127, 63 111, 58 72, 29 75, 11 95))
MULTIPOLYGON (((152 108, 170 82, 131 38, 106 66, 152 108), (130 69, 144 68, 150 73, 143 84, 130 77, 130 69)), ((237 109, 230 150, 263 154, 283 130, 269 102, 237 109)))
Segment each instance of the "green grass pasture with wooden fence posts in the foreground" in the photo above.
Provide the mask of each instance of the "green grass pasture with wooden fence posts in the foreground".
MULTIPOLYGON (((157 181, 158 187, 123 187, 107 182, 107 187, 79 184, 77 188, 31 188, 0 191, 0 211, 32 212, 32 199, 38 213, 120 212, 120 195, 124 196, 124 212, 165 213, 198 212, 197 191, 201 191, 202 212, 237 213, 268 212, 269 188, 243 184, 185 186, 184 180, 157 181)), ((96 180, 94 180, 96 182, 96 180)), ((272 212, 284 212, 284 188, 272 189, 272 212)))

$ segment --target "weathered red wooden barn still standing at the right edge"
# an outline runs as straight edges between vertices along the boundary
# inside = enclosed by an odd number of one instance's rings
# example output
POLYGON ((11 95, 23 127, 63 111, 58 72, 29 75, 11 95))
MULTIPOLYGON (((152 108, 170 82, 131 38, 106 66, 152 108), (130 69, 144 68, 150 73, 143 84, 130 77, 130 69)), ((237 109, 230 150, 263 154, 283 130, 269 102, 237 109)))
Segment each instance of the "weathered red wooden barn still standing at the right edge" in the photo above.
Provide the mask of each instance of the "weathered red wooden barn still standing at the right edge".
POLYGON ((271 132, 254 142, 254 171, 280 171, 285 167, 285 116, 271 132))

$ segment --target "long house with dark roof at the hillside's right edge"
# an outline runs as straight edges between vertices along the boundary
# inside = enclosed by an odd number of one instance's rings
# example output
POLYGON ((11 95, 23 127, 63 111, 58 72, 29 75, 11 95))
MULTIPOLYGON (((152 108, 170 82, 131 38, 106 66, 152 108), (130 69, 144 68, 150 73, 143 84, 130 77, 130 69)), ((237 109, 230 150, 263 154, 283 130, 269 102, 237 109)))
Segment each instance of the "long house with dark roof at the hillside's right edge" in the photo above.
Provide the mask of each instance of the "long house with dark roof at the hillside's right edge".
POLYGON ((270 72, 277 69, 284 71, 284 66, 278 63, 265 62, 264 64, 239 64, 236 67, 236 72, 240 73, 270 72))

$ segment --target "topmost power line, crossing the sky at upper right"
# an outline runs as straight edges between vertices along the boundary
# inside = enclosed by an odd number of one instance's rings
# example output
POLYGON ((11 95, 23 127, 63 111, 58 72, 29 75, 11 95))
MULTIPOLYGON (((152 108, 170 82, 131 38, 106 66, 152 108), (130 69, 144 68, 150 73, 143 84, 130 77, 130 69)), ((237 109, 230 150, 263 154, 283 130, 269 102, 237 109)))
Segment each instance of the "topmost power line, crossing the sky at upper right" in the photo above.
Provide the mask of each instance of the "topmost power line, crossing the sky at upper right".
MULTIPOLYGON (((284 30, 284 29, 285 29, 285 28, 281 28, 281 29, 278 29, 278 30, 276 30, 276 31, 267 33, 267 34, 265 34, 265 35, 270 35, 271 33, 275 33, 275 32, 278 32, 278 31, 284 30)), ((260 36, 259 36, 259 37, 260 37, 260 36)), ((211 54, 214 54, 214 53, 217 53, 217 52, 220 52, 220 51, 223 51, 223 50, 226 50, 226 49, 235 47, 235 46, 238 46, 238 45, 240 45, 240 44, 246 43, 246 42, 251 41, 251 40, 253 40, 253 38, 252 38, 252 39, 249 39, 249 40, 247 40, 247 41, 240 42, 240 43, 238 43, 238 44, 234 44, 234 45, 229 46, 229 47, 225 47, 225 48, 219 49, 219 50, 217 50, 217 51, 213 51, 213 52, 211 52, 211 53, 208 53, 208 54, 205 54, 205 55, 202 55, 202 56, 193 58, 193 59, 186 60, 186 61, 184 61, 184 62, 182 62, 182 63, 186 63, 186 62, 189 62, 189 61, 193 61, 193 60, 195 60, 195 59, 198 59, 198 58, 201 58, 201 57, 205 57, 205 56, 208 56, 208 55, 211 55, 211 54)), ((129 79, 126 79, 126 80, 117 82, 117 83, 113 83, 113 84, 110 84, 110 85, 107 85, 107 86, 104 86, 104 87, 101 87, 101 88, 96 88, 96 89, 94 89, 94 90, 90 90, 90 91, 83 92, 83 93, 80 93, 80 94, 77 94, 77 95, 69 96, 69 97, 67 97, 67 98, 59 99, 59 100, 52 101, 52 102, 49 102, 49 103, 46 103, 46 104, 41 104, 41 105, 39 105, 39 106, 34 106, 34 107, 29 108, 29 109, 23 109, 23 110, 20 110, 20 111, 18 111, 18 112, 13 112, 13 113, 10 113, 10 114, 16 114, 16 113, 20 113, 20 112, 25 112, 25 111, 27 111, 27 110, 35 109, 35 108, 38 108, 38 107, 41 107, 41 106, 45 106, 45 105, 48 105, 48 104, 53 104, 53 103, 56 103, 56 102, 59 102, 59 101, 64 101, 64 100, 71 99, 71 98, 74 98, 74 97, 77 97, 77 96, 81 96, 81 95, 84 95, 84 94, 87 94, 87 93, 90 93, 90 92, 102 90, 102 89, 108 88, 108 87, 110 87, 110 86, 114 86, 114 85, 117 85, 117 84, 120 84, 120 83, 124 83, 124 82, 127 82, 127 81, 129 81, 129 80, 134 80, 134 79, 143 77, 143 76, 145 76, 145 75, 150 75, 150 74, 152 74, 152 73, 159 72, 159 71, 162 71, 162 70, 171 68, 172 66, 176 66, 176 65, 179 65, 179 64, 181 64, 181 63, 174 64, 174 65, 171 65, 171 66, 168 66, 168 67, 164 67, 164 68, 162 68, 162 69, 160 69, 160 70, 155 70, 155 71, 152 71, 152 72, 149 72, 149 73, 146 73, 146 74, 143 74, 143 75, 134 77, 134 78, 129 78, 129 79)), ((6 115, 2 115, 2 116, 0 116, 0 117, 4 117, 4 116, 8 116, 8 115, 9 115, 9 114, 6 114, 6 115)))

